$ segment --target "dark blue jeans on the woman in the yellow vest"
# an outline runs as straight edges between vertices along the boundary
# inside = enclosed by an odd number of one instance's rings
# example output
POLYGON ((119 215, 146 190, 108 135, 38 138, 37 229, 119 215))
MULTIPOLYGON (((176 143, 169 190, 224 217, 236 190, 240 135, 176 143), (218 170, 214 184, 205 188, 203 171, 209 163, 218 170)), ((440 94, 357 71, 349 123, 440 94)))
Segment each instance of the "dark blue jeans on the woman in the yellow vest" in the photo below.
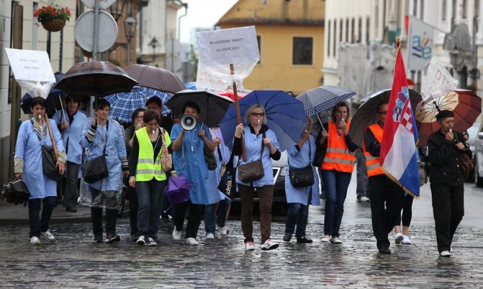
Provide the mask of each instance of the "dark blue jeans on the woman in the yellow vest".
POLYGON ((137 230, 139 235, 153 237, 156 223, 159 223, 159 199, 164 194, 166 181, 152 179, 147 182, 136 182, 136 193, 139 203, 137 212, 137 230))

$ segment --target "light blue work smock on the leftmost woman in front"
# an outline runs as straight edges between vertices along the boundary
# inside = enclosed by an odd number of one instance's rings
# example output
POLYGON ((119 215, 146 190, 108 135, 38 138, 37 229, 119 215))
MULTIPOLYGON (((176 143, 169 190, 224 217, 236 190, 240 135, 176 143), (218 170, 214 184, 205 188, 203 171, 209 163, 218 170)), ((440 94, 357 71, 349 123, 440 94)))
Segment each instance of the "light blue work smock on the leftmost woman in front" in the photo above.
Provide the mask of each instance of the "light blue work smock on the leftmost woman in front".
MULTIPOLYGON (((57 123, 52 119, 49 119, 49 121, 55 144, 57 145, 57 151, 64 151, 64 143, 57 129, 57 123)), ((42 165, 42 145, 52 147, 48 126, 46 130, 45 137, 37 134, 29 119, 22 122, 19 128, 19 135, 17 136, 15 157, 23 159, 22 179, 30 192, 30 199, 57 196, 57 182, 44 174, 42 165), (40 141, 39 137, 41 138, 40 141)))

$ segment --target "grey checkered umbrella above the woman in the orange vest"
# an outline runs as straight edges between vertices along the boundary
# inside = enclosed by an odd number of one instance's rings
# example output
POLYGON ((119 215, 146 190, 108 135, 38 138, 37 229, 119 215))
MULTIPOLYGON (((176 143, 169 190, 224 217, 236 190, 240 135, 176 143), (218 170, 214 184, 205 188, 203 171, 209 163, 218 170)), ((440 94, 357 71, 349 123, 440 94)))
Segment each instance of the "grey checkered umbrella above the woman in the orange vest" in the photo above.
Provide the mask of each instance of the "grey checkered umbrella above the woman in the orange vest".
POLYGON ((346 88, 324 85, 313 88, 297 96, 304 103, 304 111, 307 116, 315 116, 333 107, 337 102, 345 101, 355 92, 346 88))

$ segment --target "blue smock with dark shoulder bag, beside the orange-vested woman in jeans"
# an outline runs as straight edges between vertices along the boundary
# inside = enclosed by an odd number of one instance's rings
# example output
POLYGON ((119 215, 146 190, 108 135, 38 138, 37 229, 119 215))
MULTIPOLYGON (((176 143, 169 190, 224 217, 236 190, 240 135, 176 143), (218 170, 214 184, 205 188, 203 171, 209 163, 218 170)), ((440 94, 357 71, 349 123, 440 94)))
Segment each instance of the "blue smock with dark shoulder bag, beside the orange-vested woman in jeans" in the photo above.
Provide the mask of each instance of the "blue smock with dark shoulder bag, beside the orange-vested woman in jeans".
POLYGON ((287 203, 300 203, 303 205, 320 206, 319 196, 319 176, 316 169, 312 165, 312 161, 315 156, 315 140, 312 135, 308 136, 308 140, 300 148, 300 152, 294 146, 291 146, 287 150, 288 161, 293 168, 304 168, 308 164, 312 166, 312 172, 314 174, 314 184, 307 188, 294 188, 290 183, 290 176, 288 173, 288 163, 285 167, 285 196, 287 203), (310 149, 309 149, 310 144, 310 149), (308 153, 310 151, 310 158, 308 153), (308 203, 308 196, 312 194, 310 204, 308 203))

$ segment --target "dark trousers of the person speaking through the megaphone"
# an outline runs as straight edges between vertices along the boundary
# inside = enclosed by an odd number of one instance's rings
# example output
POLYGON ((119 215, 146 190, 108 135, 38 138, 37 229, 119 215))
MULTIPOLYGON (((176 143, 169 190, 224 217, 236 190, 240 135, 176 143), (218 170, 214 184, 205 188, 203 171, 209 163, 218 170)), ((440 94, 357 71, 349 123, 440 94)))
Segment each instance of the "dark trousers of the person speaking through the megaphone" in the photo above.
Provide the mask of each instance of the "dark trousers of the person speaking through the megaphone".
POLYGON ((193 204, 191 201, 186 201, 173 206, 175 207, 173 221, 175 222, 177 231, 183 229, 186 209, 190 209, 188 224, 186 225, 186 238, 196 238, 198 235, 199 224, 201 224, 201 219, 203 218, 204 205, 193 204))

